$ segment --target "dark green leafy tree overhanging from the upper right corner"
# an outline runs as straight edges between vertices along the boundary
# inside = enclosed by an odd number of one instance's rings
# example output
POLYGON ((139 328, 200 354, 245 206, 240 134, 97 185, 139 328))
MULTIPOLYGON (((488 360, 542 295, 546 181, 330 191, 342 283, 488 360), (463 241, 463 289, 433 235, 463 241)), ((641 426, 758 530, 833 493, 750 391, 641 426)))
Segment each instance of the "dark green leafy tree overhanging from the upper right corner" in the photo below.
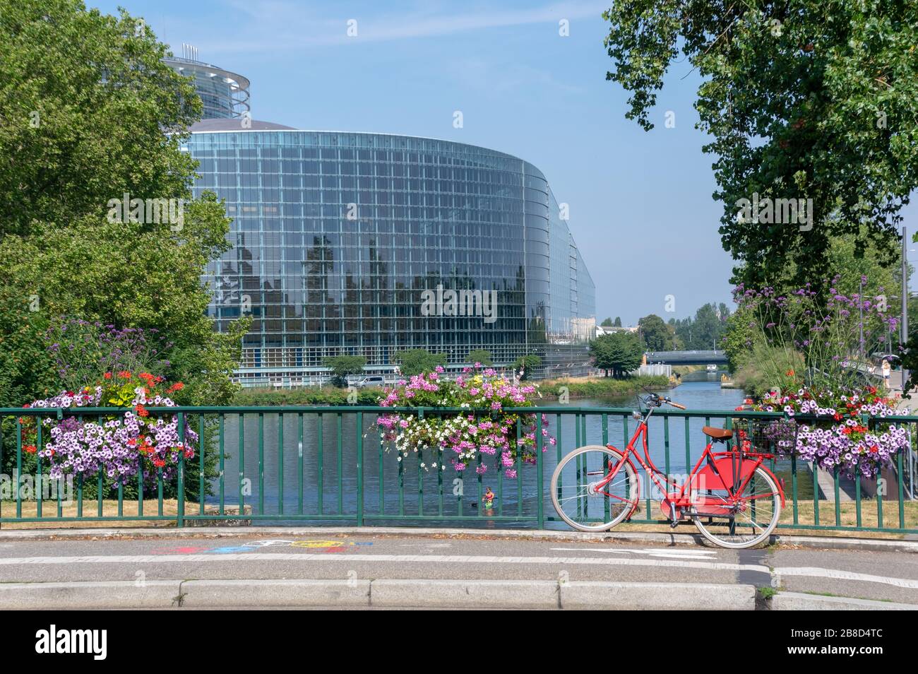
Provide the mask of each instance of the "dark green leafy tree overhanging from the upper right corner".
POLYGON ((815 284, 830 276, 834 237, 895 255, 918 187, 918 4, 613 0, 603 16, 607 79, 644 129, 670 63, 700 73, 697 126, 712 138, 735 281, 769 286, 793 264, 794 285, 815 284), (812 219, 738 217, 756 196, 804 199, 812 219))

